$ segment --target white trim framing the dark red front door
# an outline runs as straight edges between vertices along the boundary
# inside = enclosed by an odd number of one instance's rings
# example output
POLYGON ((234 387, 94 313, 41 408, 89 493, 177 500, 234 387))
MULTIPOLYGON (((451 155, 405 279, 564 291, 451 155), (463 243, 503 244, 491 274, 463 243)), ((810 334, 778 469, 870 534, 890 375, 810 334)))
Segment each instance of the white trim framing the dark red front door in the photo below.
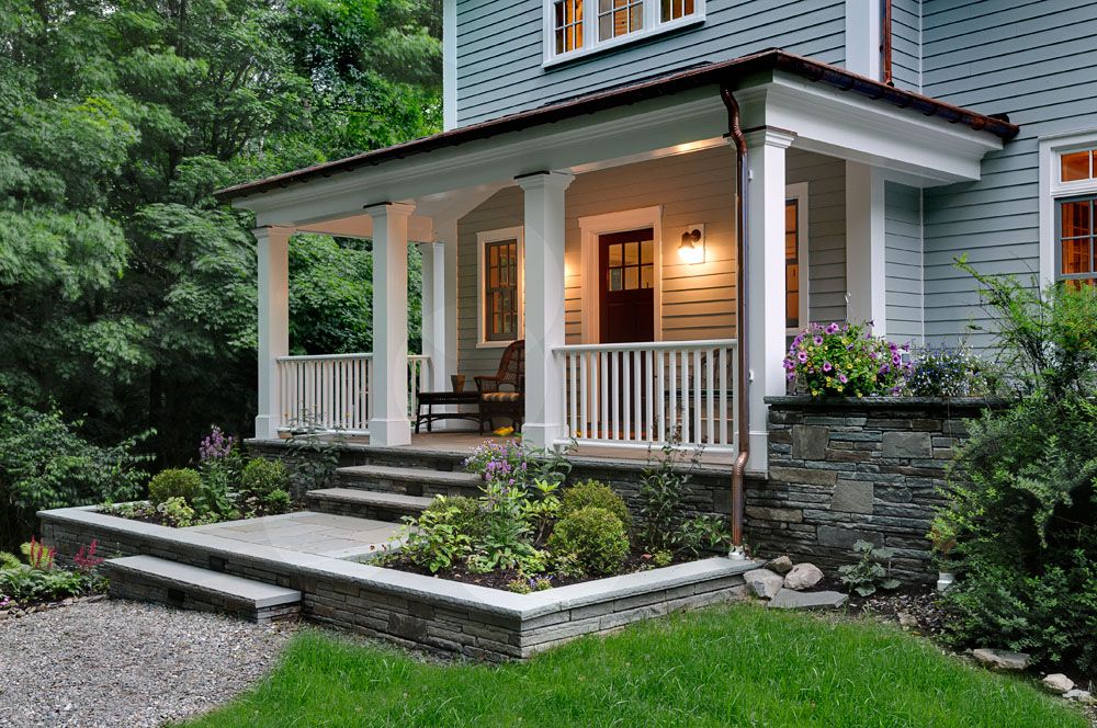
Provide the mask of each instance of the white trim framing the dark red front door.
POLYGON ((598 343, 601 338, 602 311, 599 305, 598 285, 598 236, 652 228, 655 239, 652 254, 655 257, 653 286, 655 288, 655 340, 663 341, 663 206, 626 209, 606 215, 589 215, 579 218, 579 236, 583 258, 583 343, 598 343))

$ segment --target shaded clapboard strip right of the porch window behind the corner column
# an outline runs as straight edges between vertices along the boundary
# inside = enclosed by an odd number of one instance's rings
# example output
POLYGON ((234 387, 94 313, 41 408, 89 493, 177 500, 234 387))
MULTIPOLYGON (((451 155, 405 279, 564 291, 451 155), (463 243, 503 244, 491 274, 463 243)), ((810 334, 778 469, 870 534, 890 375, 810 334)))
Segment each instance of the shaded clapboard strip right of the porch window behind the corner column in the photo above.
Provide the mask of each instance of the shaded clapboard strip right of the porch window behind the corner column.
POLYGON ((812 321, 846 318, 846 162, 790 149, 789 184, 807 183, 807 306, 812 321))

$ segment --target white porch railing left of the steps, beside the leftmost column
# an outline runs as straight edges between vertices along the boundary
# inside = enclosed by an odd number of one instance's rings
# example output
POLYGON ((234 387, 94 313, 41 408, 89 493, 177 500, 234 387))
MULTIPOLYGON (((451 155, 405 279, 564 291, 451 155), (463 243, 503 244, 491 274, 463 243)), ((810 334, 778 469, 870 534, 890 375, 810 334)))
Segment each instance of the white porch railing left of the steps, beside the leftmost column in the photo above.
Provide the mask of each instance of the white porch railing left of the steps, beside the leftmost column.
MULTIPOLYGON (((429 388, 430 357, 408 356, 408 414, 429 388)), ((309 428, 369 434, 373 354, 321 354, 278 359, 282 430, 309 428)))

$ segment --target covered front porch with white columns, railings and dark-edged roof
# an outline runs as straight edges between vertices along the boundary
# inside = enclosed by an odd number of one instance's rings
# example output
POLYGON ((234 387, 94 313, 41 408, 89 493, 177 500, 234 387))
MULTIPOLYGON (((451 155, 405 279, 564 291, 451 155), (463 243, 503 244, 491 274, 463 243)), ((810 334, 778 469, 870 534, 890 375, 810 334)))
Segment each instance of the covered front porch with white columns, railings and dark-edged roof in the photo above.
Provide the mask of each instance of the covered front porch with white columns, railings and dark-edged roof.
POLYGON ((257 439, 307 423, 372 446, 465 450, 454 423, 412 439, 418 394, 494 374, 502 346, 524 340, 517 388, 533 446, 632 458, 677 437, 730 462, 749 445, 749 470, 765 473, 765 398, 785 394, 790 332, 871 320, 877 333, 919 339, 912 189, 977 179, 1002 138, 994 120, 789 58, 223 193, 260 226, 257 439), (728 94, 742 110, 731 118, 728 94), (739 125, 745 190, 727 140, 739 125), (295 231, 373 240, 372 353, 287 355, 295 231), (409 243, 423 259, 423 345, 411 355, 409 243), (749 443, 737 437, 739 397, 749 443))

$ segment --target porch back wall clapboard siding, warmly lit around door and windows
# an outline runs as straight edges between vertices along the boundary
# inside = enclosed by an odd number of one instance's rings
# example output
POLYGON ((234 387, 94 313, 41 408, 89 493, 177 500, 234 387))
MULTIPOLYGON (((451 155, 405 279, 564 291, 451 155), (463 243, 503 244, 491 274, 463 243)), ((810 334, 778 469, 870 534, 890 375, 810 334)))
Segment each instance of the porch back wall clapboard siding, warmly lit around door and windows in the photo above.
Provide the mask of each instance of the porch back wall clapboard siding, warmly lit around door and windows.
MULTIPOLYGON (((789 182, 808 183, 808 281, 812 320, 841 320, 846 289, 845 163, 789 151, 789 182)), ((735 337, 735 158, 731 148, 668 157, 576 177, 565 202, 567 343, 583 343, 583 251, 579 218, 663 207, 663 339, 735 337), (686 265, 677 242, 688 225, 704 224, 705 261, 686 265)), ((477 346, 476 234, 522 225, 522 193, 497 192, 457 225, 459 371, 493 374, 499 349, 477 346)))

